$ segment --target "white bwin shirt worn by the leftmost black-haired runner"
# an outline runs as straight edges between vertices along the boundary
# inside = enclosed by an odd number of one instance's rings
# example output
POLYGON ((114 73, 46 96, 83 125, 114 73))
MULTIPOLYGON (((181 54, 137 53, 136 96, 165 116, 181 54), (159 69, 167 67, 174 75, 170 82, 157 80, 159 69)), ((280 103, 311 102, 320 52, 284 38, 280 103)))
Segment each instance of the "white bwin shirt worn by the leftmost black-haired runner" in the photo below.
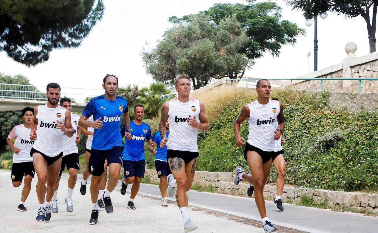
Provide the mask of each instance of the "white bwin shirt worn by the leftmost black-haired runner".
POLYGON ((19 148, 18 154, 13 153, 13 163, 33 162, 33 157, 30 157, 30 150, 34 145, 34 141, 30 140, 30 129, 26 128, 24 124, 13 127, 11 133, 8 135, 9 139, 14 139, 14 147, 19 148))

